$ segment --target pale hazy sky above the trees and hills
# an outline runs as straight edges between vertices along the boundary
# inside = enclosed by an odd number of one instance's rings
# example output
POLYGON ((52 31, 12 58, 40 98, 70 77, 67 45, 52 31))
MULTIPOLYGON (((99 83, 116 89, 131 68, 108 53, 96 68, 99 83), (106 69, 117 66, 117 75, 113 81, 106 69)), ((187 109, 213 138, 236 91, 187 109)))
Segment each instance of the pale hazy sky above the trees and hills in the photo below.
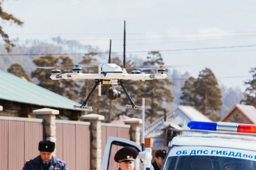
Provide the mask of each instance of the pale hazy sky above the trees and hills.
MULTIPOLYGON (((210 68, 219 84, 245 89, 256 67, 256 1, 83 1, 18 0, 2 2, 3 10, 24 21, 3 26, 10 38, 52 37, 79 40, 100 50, 123 51, 126 20, 126 56, 146 57, 159 51, 166 65, 183 66, 197 78, 210 68)), ((107 59, 106 59, 107 62, 107 59)))

